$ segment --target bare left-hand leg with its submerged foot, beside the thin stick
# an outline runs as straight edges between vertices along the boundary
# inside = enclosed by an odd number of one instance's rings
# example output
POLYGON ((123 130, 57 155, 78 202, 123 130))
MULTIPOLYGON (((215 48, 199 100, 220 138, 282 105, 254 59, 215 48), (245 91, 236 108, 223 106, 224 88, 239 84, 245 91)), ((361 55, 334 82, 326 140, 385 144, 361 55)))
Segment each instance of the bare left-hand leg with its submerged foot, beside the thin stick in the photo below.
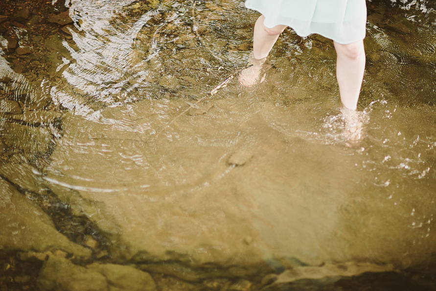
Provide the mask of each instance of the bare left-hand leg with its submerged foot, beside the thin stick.
POLYGON ((243 86, 252 86, 264 80, 262 71, 271 67, 265 64, 266 57, 273 48, 278 36, 287 27, 286 25, 277 25, 268 28, 263 25, 265 17, 261 15, 256 24, 254 24, 253 35, 253 57, 249 60, 250 68, 243 70, 239 75, 239 84, 243 86))

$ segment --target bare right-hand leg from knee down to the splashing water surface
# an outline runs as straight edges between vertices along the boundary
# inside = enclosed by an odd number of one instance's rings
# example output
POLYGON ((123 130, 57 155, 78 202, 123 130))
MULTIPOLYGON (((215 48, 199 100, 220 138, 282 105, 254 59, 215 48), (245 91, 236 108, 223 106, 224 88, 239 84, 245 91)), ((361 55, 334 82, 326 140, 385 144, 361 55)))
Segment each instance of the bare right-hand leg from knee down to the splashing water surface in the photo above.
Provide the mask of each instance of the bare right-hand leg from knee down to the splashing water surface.
POLYGON ((346 45, 333 43, 337 53, 336 78, 342 104, 345 108, 356 110, 365 71, 363 40, 346 45))

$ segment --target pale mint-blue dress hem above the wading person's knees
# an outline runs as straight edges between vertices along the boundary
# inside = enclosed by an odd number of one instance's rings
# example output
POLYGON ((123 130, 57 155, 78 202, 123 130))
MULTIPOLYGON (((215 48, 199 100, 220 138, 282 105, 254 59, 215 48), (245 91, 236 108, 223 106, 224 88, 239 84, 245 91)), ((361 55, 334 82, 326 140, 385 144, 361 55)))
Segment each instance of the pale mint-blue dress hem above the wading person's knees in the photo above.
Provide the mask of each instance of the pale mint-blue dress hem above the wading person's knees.
POLYGON ((284 24, 299 36, 321 34, 340 44, 365 38, 365 0, 247 0, 245 6, 265 16, 264 25, 284 24))

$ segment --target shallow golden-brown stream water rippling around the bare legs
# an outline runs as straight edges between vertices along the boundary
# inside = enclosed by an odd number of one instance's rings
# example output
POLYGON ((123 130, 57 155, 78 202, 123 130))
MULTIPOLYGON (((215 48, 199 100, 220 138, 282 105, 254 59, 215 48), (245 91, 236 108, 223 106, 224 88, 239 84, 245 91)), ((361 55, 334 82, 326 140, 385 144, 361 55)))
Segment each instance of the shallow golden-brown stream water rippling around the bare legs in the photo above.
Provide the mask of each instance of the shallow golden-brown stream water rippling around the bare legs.
POLYGON ((351 262, 427 274, 435 12, 403 2, 368 2, 367 69, 350 121, 321 36, 286 30, 265 82, 237 83, 258 16, 243 1, 67 1, 75 27, 60 42, 57 79, 35 86, 2 60, 14 87, 4 92, 48 98, 60 114, 23 133, 3 116, 13 154, 2 176, 54 193, 109 238, 94 252, 148 271, 144 252, 188 264, 174 255, 185 254, 192 266, 265 261, 278 273, 351 262))

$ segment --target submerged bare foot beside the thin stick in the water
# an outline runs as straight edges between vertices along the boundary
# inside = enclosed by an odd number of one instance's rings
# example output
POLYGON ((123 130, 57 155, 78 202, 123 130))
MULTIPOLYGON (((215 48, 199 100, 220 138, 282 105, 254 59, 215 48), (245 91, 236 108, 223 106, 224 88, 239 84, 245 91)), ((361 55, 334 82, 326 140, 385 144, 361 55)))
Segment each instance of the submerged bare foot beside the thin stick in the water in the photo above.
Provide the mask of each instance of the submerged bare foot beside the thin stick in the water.
POLYGON ((256 84, 262 83, 265 80, 266 71, 271 68, 271 63, 268 57, 256 60, 253 54, 250 55, 248 60, 250 67, 245 68, 239 74, 239 84, 245 87, 251 87, 256 84))

